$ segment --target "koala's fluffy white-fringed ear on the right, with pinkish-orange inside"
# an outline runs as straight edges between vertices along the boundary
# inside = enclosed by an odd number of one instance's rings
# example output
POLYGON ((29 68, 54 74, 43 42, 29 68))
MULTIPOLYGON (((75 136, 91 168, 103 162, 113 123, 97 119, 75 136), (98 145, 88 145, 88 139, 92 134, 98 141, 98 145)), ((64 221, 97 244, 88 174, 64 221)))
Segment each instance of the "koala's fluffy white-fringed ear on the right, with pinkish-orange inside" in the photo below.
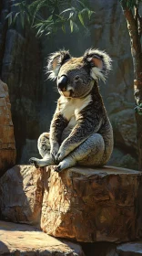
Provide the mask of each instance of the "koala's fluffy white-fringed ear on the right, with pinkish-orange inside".
POLYGON ((93 79, 106 80, 106 75, 111 69, 111 59, 105 51, 90 48, 84 55, 84 62, 89 66, 90 75, 93 79))

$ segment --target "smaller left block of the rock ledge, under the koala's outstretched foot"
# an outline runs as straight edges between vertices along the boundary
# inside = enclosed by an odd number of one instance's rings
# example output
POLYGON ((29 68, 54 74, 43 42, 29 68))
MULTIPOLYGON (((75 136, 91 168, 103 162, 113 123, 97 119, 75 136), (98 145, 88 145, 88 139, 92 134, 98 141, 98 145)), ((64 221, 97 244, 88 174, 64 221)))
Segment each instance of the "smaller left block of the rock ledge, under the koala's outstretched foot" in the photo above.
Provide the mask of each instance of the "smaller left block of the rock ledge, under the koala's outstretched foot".
POLYGON ((0 179, 0 209, 3 219, 39 226, 42 200, 42 170, 15 165, 0 179))

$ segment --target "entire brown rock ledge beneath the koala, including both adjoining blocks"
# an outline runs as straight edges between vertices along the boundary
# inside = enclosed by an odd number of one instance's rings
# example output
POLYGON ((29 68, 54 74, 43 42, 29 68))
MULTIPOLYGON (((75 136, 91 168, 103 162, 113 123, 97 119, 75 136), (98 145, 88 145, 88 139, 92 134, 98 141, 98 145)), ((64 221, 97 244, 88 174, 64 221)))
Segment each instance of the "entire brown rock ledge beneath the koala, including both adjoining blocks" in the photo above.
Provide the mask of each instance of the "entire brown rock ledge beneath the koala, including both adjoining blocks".
POLYGON ((1 214, 58 238, 136 240, 142 229, 141 187, 142 174, 123 168, 74 167, 57 174, 54 167, 17 165, 0 180, 1 214))

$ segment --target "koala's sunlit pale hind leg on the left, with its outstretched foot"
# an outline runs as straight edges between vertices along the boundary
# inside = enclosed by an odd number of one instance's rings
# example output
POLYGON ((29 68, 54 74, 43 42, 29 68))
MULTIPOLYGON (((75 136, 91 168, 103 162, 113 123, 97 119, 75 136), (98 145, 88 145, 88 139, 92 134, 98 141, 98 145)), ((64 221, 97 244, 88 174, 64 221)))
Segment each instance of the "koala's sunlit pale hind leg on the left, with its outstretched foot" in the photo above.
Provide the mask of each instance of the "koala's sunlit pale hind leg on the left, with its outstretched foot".
POLYGON ((37 147, 43 159, 32 157, 29 159, 29 163, 39 167, 54 165, 53 159, 50 156, 49 133, 42 133, 39 136, 37 147))

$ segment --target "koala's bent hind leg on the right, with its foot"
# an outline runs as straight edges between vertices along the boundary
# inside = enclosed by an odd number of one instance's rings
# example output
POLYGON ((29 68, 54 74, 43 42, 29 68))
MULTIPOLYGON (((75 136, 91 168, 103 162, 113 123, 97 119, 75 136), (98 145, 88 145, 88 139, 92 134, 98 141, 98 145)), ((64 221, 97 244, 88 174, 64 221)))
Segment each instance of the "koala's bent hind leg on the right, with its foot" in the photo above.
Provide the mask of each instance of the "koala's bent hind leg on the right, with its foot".
POLYGON ((105 152, 103 137, 94 133, 55 167, 57 172, 75 165, 100 166, 105 152))

